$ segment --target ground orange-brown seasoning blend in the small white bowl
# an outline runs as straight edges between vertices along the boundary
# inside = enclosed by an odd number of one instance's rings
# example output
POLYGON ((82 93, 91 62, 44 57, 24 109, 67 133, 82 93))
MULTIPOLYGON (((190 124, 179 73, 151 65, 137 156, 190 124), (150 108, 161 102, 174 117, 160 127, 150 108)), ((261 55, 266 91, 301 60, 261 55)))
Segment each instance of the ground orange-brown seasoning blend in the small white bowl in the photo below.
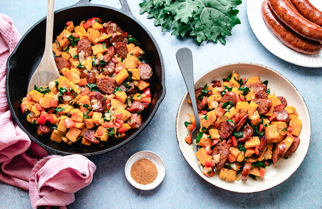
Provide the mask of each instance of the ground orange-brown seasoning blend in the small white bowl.
POLYGON ((130 174, 138 184, 147 185, 156 180, 158 170, 152 161, 142 158, 133 163, 130 174))

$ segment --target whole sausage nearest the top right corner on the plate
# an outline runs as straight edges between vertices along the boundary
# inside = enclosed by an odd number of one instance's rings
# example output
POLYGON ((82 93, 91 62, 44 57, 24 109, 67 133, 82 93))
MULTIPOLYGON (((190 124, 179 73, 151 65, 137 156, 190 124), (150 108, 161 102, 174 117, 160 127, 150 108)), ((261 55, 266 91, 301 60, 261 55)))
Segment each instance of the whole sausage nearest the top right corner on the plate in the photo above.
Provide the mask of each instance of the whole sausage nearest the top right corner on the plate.
POLYGON ((322 27, 322 12, 308 0, 290 0, 300 14, 309 21, 322 27))

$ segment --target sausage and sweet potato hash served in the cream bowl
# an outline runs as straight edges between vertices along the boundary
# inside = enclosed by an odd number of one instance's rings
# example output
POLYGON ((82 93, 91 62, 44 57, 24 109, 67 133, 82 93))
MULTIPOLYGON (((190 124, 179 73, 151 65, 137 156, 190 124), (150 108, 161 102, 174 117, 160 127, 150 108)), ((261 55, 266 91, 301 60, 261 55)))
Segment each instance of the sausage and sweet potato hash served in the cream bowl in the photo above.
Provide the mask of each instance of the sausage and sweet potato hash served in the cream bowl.
MULTIPOLYGON (((195 89, 201 128, 194 140, 204 175, 213 177, 217 169, 226 181, 263 178, 266 166, 298 148, 298 113, 267 85, 259 76, 246 79, 233 71, 223 82, 214 80, 195 89)), ((194 116, 185 126, 194 130, 194 116)), ((192 143, 191 133, 185 141, 192 143)))

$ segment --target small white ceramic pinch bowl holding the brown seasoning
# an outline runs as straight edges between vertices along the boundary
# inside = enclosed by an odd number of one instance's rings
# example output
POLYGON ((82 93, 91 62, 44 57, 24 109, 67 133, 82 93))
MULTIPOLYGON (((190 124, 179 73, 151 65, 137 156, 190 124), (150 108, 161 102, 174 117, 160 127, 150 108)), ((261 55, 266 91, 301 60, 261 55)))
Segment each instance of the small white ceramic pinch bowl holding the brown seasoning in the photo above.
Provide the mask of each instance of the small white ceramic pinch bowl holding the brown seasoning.
POLYGON ((159 155, 157 155, 156 153, 151 152, 151 151, 141 151, 141 152, 135 153, 134 155, 132 155, 128 159, 128 161, 125 165, 126 179, 128 179, 128 182, 130 182, 130 184, 132 184, 133 187, 136 187, 141 190, 150 190, 150 189, 156 188, 157 186, 159 186, 159 184, 164 179, 165 174, 166 174, 166 167, 165 167, 162 159, 160 158, 159 155), (142 159, 142 158, 146 158, 146 159, 152 161, 156 165, 156 168, 158 170, 158 175, 156 177, 156 180, 154 182, 152 182, 151 184, 147 184, 147 185, 138 184, 131 177, 130 170, 131 170, 133 163, 135 163, 137 160, 142 159))

